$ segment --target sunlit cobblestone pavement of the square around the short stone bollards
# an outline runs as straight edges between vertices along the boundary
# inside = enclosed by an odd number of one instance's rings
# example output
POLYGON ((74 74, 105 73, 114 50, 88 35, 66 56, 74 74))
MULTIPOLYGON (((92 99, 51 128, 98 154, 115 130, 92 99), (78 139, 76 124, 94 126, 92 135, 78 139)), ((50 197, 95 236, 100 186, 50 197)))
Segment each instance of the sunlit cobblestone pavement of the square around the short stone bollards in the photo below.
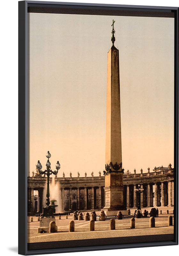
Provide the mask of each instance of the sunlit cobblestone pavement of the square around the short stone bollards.
MULTIPOLYGON (((172 214, 173 216, 173 214, 172 214)), ((52 242, 65 240, 80 240, 80 239, 95 239, 119 236, 147 236, 160 234, 173 234, 173 226, 167 226, 168 215, 159 215, 155 218, 155 228, 149 228, 149 218, 135 219, 136 228, 130 229, 130 219, 116 220, 116 229, 109 230, 109 220, 96 221, 95 231, 89 231, 89 221, 75 220, 75 232, 68 232, 69 221, 72 220, 72 215, 65 219, 62 216, 61 220, 56 217, 56 225, 58 233, 37 233, 39 221, 34 217, 34 222, 28 222, 28 243, 52 242)))

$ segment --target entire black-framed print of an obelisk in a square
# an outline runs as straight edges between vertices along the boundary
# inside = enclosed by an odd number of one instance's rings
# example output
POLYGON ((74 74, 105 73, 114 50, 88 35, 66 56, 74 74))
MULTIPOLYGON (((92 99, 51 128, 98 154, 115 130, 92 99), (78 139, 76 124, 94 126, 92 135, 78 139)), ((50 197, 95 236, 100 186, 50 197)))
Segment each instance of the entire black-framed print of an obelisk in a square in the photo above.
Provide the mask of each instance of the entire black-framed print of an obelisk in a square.
POLYGON ((178 7, 19 2, 19 254, 178 244, 178 7))

